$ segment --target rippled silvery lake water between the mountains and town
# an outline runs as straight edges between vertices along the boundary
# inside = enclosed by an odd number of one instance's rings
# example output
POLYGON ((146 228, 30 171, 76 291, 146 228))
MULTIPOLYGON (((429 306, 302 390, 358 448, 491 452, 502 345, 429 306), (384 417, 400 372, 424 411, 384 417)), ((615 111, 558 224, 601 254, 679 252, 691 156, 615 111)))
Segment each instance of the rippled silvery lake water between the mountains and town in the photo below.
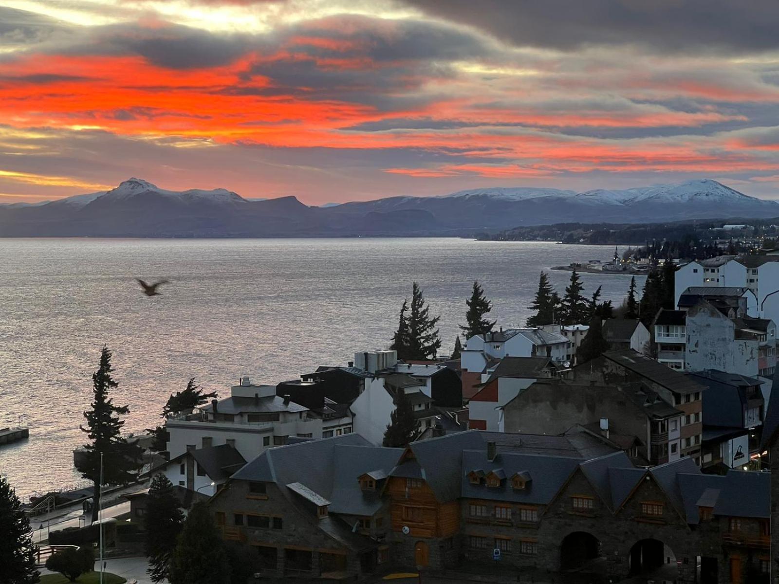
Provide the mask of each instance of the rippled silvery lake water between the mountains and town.
MULTIPOLYGON (((448 351, 474 279, 493 318, 521 324, 541 269, 612 253, 449 238, 0 239, 0 427, 23 415, 31 428, 29 441, 0 446, 0 473, 23 495, 79 480, 71 451, 104 343, 114 399, 131 409, 126 427, 142 431, 189 377, 226 393, 242 374, 275 383, 386 347, 413 280, 442 316, 448 351), (171 283, 145 297, 135 276, 171 283)), ((550 277, 562 294, 569 273, 550 277)), ((583 280, 615 304, 629 284, 583 280)))

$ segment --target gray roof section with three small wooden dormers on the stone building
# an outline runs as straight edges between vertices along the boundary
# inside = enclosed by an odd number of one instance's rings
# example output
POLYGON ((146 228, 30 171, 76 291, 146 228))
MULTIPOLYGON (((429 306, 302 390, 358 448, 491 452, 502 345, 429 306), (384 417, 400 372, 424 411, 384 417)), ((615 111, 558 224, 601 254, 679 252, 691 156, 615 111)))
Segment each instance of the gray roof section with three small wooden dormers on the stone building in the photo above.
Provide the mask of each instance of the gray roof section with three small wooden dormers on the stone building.
POLYGON ((463 452, 460 489, 465 498, 548 505, 580 462, 581 459, 567 456, 515 454, 513 452, 499 452, 498 456, 495 456, 495 460, 491 462, 487 459, 485 450, 467 450, 463 452), (502 470, 506 479, 502 480, 500 487, 471 484, 467 477, 471 470, 482 470, 485 475, 492 470, 502 470), (515 473, 523 472, 530 473, 530 482, 524 489, 512 488, 511 477, 515 473))

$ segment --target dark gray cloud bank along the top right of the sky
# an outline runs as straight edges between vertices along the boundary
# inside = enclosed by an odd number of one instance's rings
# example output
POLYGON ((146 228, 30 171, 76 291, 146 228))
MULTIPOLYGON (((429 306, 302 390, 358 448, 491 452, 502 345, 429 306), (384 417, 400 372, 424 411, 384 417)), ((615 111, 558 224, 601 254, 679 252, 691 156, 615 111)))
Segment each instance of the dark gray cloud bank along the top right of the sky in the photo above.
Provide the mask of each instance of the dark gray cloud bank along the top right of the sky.
POLYGON ((777 0, 406 0, 520 46, 573 51, 639 44, 657 51, 779 48, 777 0))

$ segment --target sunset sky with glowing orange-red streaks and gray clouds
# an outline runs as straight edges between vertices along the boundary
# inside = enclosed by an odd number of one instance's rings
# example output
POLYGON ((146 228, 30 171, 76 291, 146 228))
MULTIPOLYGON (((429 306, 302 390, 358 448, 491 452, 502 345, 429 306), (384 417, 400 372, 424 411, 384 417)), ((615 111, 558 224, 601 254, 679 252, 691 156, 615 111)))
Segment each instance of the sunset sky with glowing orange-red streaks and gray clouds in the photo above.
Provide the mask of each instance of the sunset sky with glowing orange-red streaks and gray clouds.
POLYGON ((779 199, 777 0, 0 0, 0 202, 714 178, 779 199))

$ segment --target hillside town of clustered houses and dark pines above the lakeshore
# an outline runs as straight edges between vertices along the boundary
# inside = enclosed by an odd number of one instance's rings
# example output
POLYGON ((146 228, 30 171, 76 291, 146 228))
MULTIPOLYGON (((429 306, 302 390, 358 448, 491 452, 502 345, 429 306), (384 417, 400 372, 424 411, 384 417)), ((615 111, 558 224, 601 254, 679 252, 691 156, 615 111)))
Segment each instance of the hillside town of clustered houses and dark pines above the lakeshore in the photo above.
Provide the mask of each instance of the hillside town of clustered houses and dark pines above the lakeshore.
MULTIPOLYGON (((221 396, 190 380, 145 449, 117 417, 76 466, 93 477, 99 454, 125 474, 94 479, 83 517, 39 530, 26 553, 57 571, 95 543, 146 554, 151 581, 171 584, 207 565, 242 583, 456 571, 768 584, 777 289, 773 253, 668 260, 619 307, 583 296, 575 272, 561 297, 542 273, 517 328, 488 319, 474 283, 463 340, 441 357, 414 283, 390 348, 277 384, 242 375, 221 396)), ((119 415, 111 370, 105 348, 93 405, 119 415)), ((28 528, 41 501, 17 505, 28 528)))

